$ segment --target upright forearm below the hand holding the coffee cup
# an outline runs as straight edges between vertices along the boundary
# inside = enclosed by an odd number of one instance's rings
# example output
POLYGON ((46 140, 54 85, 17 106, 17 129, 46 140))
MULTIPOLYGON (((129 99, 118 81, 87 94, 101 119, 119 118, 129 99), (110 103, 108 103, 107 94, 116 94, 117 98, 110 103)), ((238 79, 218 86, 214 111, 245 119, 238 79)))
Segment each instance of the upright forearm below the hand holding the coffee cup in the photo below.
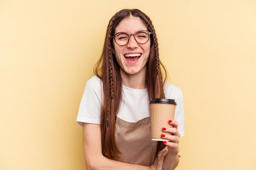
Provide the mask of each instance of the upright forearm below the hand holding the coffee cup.
POLYGON ((179 161, 178 154, 168 152, 164 159, 163 170, 174 170, 178 166, 179 161))

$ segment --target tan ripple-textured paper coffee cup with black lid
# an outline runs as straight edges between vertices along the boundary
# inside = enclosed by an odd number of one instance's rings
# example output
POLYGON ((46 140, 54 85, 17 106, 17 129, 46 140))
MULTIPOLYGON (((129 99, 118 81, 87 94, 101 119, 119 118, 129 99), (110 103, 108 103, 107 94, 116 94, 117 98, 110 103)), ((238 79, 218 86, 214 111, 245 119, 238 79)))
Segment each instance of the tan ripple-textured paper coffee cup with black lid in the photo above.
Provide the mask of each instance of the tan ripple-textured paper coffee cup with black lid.
POLYGON ((175 107, 177 103, 173 99, 151 98, 150 106, 150 122, 151 122, 151 139, 157 141, 169 141, 163 139, 161 134, 172 135, 163 132, 163 127, 173 127, 168 120, 173 120, 175 107))

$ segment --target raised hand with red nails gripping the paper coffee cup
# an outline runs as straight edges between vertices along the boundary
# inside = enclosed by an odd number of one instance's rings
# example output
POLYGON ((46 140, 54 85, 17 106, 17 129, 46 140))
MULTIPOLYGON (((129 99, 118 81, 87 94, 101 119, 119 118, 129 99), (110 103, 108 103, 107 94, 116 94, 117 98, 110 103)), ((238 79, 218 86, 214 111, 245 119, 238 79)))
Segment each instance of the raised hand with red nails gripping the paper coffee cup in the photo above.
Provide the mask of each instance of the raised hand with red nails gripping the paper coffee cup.
POLYGON ((164 135, 162 134, 161 137, 163 139, 168 139, 170 141, 164 141, 164 144, 168 148, 168 152, 173 154, 178 154, 180 151, 179 142, 180 142, 180 133, 178 131, 178 122, 175 120, 169 120, 169 124, 173 125, 173 127, 163 127, 163 132, 172 133, 173 135, 164 135))

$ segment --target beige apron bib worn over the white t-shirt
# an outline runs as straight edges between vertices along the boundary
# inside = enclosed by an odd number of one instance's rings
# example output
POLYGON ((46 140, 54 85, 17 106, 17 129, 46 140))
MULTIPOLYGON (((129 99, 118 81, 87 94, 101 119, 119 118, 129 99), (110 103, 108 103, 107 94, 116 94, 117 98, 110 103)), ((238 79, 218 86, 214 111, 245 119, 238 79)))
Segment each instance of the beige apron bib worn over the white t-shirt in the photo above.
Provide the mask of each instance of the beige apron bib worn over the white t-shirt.
POLYGON ((115 138, 121 151, 117 161, 151 166, 155 159, 157 142, 151 140, 150 117, 135 123, 117 117, 115 138))

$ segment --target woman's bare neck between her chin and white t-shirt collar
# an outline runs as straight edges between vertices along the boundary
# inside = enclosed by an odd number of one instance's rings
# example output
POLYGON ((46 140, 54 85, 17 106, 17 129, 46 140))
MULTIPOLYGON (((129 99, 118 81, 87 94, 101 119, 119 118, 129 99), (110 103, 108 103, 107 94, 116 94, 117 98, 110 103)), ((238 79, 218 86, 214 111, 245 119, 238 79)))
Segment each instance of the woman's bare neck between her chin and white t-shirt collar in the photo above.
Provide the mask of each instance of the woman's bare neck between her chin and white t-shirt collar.
POLYGON ((120 74, 122 78, 122 85, 126 87, 130 87, 132 89, 145 89, 145 76, 146 69, 141 70, 141 72, 137 74, 127 74, 124 70, 120 69, 120 74))

